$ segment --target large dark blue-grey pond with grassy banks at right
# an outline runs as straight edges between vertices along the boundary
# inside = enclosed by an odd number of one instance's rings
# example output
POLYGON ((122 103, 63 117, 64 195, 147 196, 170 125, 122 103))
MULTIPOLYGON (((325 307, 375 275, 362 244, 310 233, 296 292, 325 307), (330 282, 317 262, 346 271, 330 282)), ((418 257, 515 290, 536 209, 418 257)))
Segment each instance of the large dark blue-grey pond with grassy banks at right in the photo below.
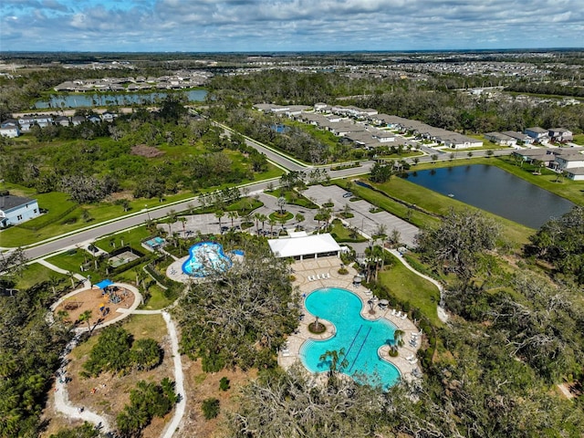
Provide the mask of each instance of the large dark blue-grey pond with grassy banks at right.
POLYGON ((531 228, 539 228, 551 217, 568 213, 574 206, 557 194, 485 164, 410 172, 407 178, 434 192, 452 194, 458 201, 531 228))

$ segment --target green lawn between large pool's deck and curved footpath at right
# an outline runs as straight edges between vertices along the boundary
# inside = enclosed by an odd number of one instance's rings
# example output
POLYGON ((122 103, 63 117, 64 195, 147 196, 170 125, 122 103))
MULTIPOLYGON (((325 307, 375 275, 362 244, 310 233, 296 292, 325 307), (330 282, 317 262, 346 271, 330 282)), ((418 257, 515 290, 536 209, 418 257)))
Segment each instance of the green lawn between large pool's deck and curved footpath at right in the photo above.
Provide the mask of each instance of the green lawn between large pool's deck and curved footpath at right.
POLYGON ((391 257, 393 266, 380 272, 378 276, 380 284, 400 301, 409 301, 412 307, 420 308, 434 327, 442 326, 436 310, 440 302, 438 288, 403 266, 393 255, 391 257))

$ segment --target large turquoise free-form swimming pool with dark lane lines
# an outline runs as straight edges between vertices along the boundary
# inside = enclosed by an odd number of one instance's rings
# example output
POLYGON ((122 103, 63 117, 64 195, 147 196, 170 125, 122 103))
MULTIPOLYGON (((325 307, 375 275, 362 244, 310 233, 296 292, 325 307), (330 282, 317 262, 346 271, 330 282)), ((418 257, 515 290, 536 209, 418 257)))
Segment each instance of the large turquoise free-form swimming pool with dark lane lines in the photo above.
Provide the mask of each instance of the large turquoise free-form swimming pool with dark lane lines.
POLYGON ((300 360, 310 372, 325 372, 330 361, 320 360, 326 351, 345 349, 347 365, 339 370, 358 381, 381 384, 388 389, 400 379, 400 371, 381 360, 377 350, 391 344, 395 326, 387 319, 368 321, 360 316, 362 303, 349 290, 339 287, 317 289, 308 295, 306 308, 318 318, 327 319, 337 328, 337 334, 327 340, 308 340, 300 349, 300 360))

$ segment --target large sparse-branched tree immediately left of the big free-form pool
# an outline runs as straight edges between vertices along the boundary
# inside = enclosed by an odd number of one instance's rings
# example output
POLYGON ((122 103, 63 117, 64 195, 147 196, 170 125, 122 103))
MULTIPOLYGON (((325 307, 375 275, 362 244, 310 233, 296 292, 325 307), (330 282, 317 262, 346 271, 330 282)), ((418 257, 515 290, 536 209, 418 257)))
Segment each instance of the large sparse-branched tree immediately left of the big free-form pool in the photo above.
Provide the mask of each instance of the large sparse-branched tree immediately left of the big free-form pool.
POLYGON ((181 299, 181 345, 206 370, 224 366, 271 364, 276 348, 297 327, 297 310, 284 259, 276 258, 263 239, 245 242, 245 258, 212 281, 193 284, 181 299))

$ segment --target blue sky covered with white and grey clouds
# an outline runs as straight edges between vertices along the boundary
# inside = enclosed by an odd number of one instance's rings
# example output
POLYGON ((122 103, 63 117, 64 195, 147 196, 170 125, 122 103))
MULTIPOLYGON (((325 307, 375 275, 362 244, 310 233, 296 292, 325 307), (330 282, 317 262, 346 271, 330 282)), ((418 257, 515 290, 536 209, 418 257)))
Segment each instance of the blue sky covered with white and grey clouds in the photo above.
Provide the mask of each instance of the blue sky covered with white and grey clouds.
POLYGON ((584 47, 584 0, 1 0, 0 50, 584 47))

